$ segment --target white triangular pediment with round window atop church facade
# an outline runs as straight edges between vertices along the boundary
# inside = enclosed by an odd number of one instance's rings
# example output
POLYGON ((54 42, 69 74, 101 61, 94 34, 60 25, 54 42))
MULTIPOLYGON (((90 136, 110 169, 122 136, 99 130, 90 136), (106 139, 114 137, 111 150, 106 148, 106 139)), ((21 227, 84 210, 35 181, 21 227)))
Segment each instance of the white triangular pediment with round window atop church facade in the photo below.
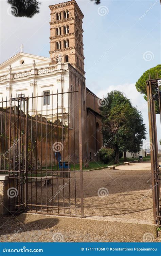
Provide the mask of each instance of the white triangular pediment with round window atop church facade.
POLYGON ((27 53, 18 53, 16 55, 14 55, 13 57, 11 57, 10 59, 1 63, 0 69, 1 69, 1 71, 3 69, 7 69, 9 67, 9 65, 11 65, 12 69, 13 68, 24 69, 25 67, 27 68, 28 66, 31 66, 33 60, 35 60, 36 64, 38 64, 38 65, 41 65, 41 63, 43 65, 43 63, 50 62, 50 58, 27 54, 27 53))

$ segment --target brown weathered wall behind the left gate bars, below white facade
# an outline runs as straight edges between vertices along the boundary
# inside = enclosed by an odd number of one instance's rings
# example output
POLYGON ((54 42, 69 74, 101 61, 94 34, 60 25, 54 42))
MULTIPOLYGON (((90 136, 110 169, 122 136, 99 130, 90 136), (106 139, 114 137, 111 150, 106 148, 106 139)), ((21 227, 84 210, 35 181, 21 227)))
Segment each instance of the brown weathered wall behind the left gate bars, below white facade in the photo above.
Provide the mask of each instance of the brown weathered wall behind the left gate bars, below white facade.
MULTIPOLYGON (((24 157, 23 152, 25 150, 25 132, 26 125, 25 114, 21 112, 21 118, 18 116, 18 109, 14 110, 12 107, 11 114, 11 169, 13 168, 13 157, 14 150, 19 152, 19 147, 21 145, 22 157, 24 157), (15 121, 15 122, 14 122, 15 121), (21 137, 20 137, 20 122, 21 122, 21 137), (14 125, 15 124, 15 125, 14 125), (19 139, 21 138, 21 140, 19 139)), ((0 152, 1 152, 1 170, 8 170, 8 157, 9 157, 9 136, 10 136, 10 108, 7 109, 0 108, 0 127, 2 127, 2 134, 0 138, 0 152), (2 123, 2 126, 1 126, 2 123), (5 132, 6 131, 6 132, 5 132), (4 166, 5 158, 5 166, 4 166)), ((54 123, 50 121, 47 122, 45 117, 41 115, 28 118, 28 161, 29 169, 32 166, 34 170, 37 163, 37 168, 51 166, 51 163, 56 164, 55 159, 56 147, 53 144, 56 141, 63 143, 64 148, 64 161, 67 161, 67 149, 68 149, 68 128, 62 126, 62 123, 58 120, 54 123), (57 125, 58 123, 58 125, 57 125), (62 128, 63 128, 63 140, 62 140, 62 128), (57 132, 58 131, 58 132, 57 132), (46 136, 47 134, 47 136, 46 136), (41 150, 42 149, 42 150, 41 150)), ((59 144, 59 143, 58 143, 59 144)), ((61 149, 61 148, 60 148, 61 149)), ((62 154, 62 150, 60 150, 62 154)), ((18 153, 17 153, 18 154, 18 153)), ((23 159, 24 160, 24 159, 23 159)))

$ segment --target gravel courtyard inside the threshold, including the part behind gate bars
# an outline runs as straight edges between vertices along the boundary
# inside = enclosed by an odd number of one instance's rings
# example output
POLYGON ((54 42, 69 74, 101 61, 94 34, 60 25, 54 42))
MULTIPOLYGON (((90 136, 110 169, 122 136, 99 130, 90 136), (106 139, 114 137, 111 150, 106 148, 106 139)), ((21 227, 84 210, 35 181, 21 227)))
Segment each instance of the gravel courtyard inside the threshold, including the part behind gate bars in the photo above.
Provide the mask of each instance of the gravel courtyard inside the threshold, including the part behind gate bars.
MULTIPOLYGON (((37 189, 33 183, 32 185, 29 183, 29 204, 48 205, 48 208, 32 206, 29 210, 50 213, 52 208, 49 205, 71 206, 71 211, 65 209, 65 213, 80 215, 80 184, 77 179, 79 173, 75 175, 76 180, 70 180, 70 187, 68 179, 65 179, 64 183, 63 180, 54 179, 53 186, 37 186, 37 189), (64 189, 61 189, 62 187, 64 189), (57 191, 59 191, 58 194, 57 191), (58 204, 57 201, 59 201, 58 204)), ((74 177, 74 173, 71 173, 71 177, 74 177)), ((147 182, 150 177, 150 162, 118 166, 116 170, 106 168, 84 171, 85 216, 111 216, 153 221, 152 185, 151 182, 147 182)), ((54 208, 53 212, 58 213, 57 208, 54 208)), ((64 210, 60 208, 59 213, 64 213, 64 210)))

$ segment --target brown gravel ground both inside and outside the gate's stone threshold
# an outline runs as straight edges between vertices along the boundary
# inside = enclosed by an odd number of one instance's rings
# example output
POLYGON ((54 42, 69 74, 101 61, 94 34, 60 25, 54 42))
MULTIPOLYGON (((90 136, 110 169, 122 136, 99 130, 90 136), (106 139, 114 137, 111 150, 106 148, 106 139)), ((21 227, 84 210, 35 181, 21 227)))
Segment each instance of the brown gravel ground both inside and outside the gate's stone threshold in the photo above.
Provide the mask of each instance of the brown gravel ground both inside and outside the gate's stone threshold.
MULTIPOLYGON (((72 174, 74 175, 74 174, 72 174)), ((78 173, 76 174, 76 177, 78 173)), ((142 220, 153 223, 153 204, 152 204, 152 188, 151 182, 150 162, 143 163, 131 163, 129 166, 118 166, 116 170, 101 169, 94 171, 83 172, 84 182, 84 213, 85 216, 103 216, 111 218, 119 218, 122 220, 142 220)), ((64 181, 67 184, 64 190, 59 191, 59 206, 68 207, 69 200, 72 207, 80 207, 79 200, 79 180, 76 180, 76 190, 74 186, 74 180, 70 182, 70 199, 69 199, 69 183, 68 179, 64 181), (75 201, 75 194, 76 198, 75 201), (63 200, 63 197, 65 200, 63 200)), ((52 187, 49 185, 48 194, 46 186, 37 187, 29 184, 29 203, 37 204, 43 203, 44 205, 57 205, 57 197, 51 200, 52 195, 56 193, 57 188, 63 186, 62 180, 57 184, 57 180, 53 182, 52 187), (55 185, 54 185, 55 184, 55 185), (58 186, 57 186, 58 185, 58 186), (32 201, 31 197, 32 189, 32 201), (41 197, 42 194, 42 197, 41 197), (37 199, 36 199, 37 198, 37 199), (51 200, 51 201, 50 201, 51 200)), ((52 208, 51 208, 52 209, 52 208)), ((48 208, 48 213, 52 210, 48 208)), ((36 207, 31 208, 36 210, 36 207)), ((41 207, 37 207, 37 211, 41 210, 41 207)), ((47 211, 46 207, 42 208, 42 211, 47 211)), ((60 212, 63 213, 62 210, 60 212)), ((67 212, 69 210, 67 209, 67 212)), ((71 213, 75 214, 75 209, 71 210, 71 213)), ((80 211, 77 210, 77 214, 80 211)), ((33 216, 33 215, 32 215, 33 216)), ((29 218, 29 217, 28 217, 29 218)), ((68 230, 60 229, 54 223, 54 226, 50 226, 47 221, 39 220, 29 222, 27 225, 18 218, 13 216, 5 216, 1 220, 0 227, 0 241, 23 241, 23 242, 52 242, 53 232, 62 232, 64 234, 64 240, 66 242, 81 242, 81 241, 131 241, 128 239, 120 239, 113 235, 108 237, 104 233, 87 233, 86 231, 80 231, 79 229, 68 230)), ((133 241, 133 240, 132 240, 133 241)), ((137 239, 134 241, 138 241, 137 239)), ((140 240, 139 240, 140 241, 140 240)), ((156 240, 157 241, 157 240, 156 240)))

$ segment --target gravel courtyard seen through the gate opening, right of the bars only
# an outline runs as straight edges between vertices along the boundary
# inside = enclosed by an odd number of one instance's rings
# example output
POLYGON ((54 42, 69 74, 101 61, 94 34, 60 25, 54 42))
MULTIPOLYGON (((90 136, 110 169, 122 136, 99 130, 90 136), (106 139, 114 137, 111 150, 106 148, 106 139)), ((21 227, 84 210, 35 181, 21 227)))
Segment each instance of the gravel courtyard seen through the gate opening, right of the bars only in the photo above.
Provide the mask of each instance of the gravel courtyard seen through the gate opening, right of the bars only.
POLYGON ((150 177, 150 162, 86 173, 85 215, 153 221, 152 185, 147 183, 150 177), (107 188, 108 196, 99 197, 99 188, 107 188))

